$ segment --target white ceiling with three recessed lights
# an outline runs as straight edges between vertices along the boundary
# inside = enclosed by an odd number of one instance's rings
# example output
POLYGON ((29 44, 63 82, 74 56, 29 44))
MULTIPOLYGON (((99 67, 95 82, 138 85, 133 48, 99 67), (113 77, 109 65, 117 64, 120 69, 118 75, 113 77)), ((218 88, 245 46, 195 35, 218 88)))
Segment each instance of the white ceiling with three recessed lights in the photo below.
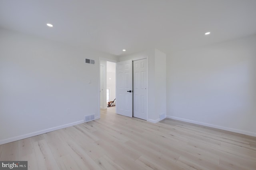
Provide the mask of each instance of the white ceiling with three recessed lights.
POLYGON ((2 28, 114 55, 249 36, 255 18, 256 0, 0 0, 2 28))

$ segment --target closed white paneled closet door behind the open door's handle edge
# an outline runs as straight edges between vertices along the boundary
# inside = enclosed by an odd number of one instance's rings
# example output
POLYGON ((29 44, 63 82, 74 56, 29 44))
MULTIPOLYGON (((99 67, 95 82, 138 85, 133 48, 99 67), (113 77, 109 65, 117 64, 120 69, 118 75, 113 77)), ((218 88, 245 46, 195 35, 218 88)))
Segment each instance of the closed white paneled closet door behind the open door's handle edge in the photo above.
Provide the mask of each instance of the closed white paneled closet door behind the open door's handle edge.
POLYGON ((133 61, 133 116, 147 120, 148 60, 133 61))

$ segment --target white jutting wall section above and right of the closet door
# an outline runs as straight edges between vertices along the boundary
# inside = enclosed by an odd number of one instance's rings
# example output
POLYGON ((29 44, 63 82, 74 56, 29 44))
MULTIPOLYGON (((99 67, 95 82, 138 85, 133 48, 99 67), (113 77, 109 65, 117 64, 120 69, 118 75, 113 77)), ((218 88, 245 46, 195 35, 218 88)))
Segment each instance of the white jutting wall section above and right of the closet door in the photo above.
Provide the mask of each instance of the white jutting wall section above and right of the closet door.
POLYGON ((138 60, 148 58, 148 121, 158 122, 159 114, 166 115, 166 54, 157 49, 148 49, 144 52, 122 56, 119 61, 138 60), (164 65, 164 66, 163 66, 164 65), (162 74, 162 78, 159 77, 162 74), (159 89, 163 88, 163 89, 159 89), (159 109, 159 106, 164 108, 159 109))

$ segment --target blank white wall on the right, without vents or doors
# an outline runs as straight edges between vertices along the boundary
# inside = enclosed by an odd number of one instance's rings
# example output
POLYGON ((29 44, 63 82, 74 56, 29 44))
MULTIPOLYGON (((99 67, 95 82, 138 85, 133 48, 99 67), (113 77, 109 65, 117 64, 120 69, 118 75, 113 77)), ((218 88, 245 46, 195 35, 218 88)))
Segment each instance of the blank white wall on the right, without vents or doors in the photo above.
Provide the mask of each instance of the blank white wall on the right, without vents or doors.
POLYGON ((170 118, 256 136, 256 36, 167 57, 170 118))

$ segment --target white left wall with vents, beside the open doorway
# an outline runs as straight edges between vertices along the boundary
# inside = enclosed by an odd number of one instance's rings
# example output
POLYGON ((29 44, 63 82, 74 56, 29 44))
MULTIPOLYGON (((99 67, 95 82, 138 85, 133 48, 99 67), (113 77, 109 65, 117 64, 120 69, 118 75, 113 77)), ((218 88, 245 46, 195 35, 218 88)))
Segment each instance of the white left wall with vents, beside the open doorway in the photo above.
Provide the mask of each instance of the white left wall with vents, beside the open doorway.
POLYGON ((0 144, 99 117, 99 57, 116 60, 0 29, 0 144))

